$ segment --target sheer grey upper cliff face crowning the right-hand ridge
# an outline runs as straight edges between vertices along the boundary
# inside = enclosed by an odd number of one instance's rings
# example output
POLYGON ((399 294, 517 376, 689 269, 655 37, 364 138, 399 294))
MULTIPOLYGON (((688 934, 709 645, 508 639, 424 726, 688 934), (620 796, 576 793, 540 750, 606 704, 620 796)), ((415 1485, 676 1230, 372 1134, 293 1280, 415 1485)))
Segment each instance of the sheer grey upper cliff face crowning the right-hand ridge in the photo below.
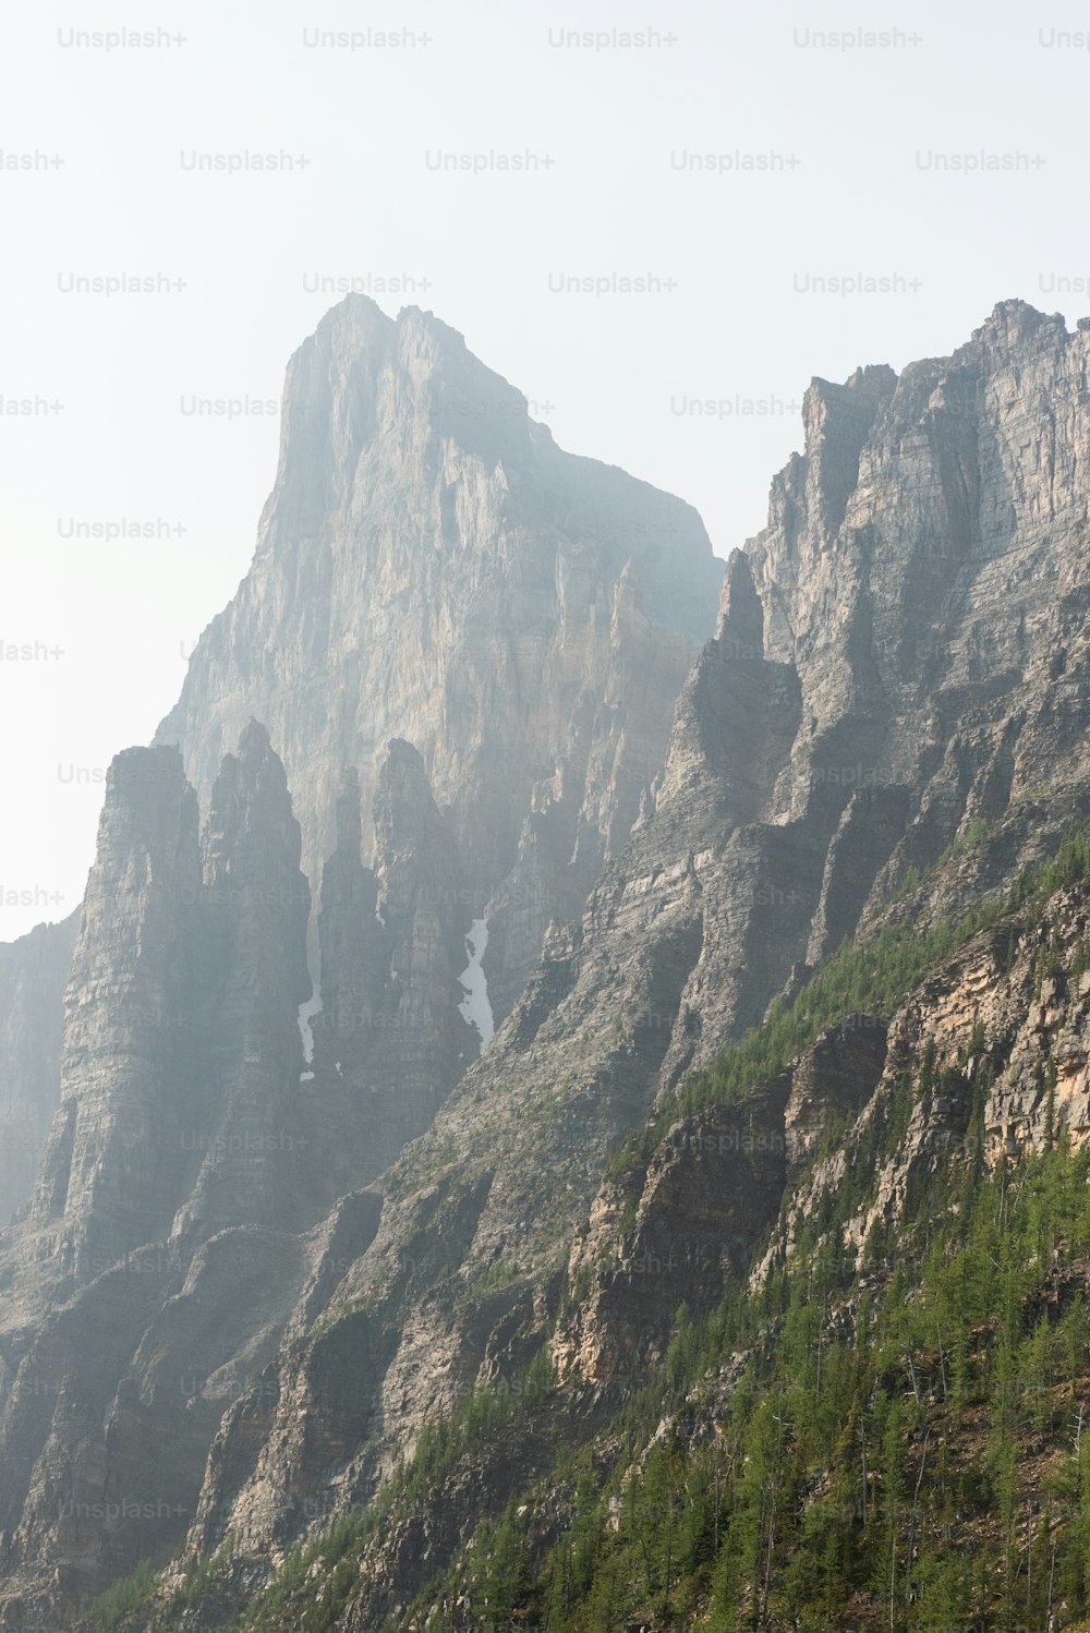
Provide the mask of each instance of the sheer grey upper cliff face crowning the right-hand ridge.
POLYGON ((855 769, 844 722, 871 787, 917 790, 914 861, 1083 774, 1088 359, 1085 330, 1007 302, 950 359, 811 387, 808 459, 751 547, 767 656, 808 699, 783 815, 855 769))

